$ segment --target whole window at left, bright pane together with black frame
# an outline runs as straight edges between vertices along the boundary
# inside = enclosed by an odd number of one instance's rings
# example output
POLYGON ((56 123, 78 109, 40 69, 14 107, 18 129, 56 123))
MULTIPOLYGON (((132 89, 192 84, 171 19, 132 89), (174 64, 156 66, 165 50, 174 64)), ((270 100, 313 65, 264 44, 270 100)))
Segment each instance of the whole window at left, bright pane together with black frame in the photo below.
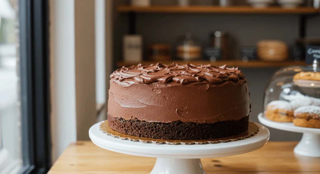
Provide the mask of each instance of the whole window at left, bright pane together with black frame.
POLYGON ((0 0, 0 173, 50 167, 48 0, 0 0))

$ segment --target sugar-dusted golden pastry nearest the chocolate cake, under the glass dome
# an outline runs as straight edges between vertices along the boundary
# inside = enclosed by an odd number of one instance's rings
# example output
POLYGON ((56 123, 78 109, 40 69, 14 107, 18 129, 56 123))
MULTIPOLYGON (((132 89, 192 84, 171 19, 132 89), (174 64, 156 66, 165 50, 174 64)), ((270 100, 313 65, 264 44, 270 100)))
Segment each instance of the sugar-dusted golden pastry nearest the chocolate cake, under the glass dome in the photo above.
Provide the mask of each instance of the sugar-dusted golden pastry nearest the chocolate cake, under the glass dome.
POLYGON ((290 102, 275 100, 267 105, 264 115, 273 121, 292 122, 293 109, 290 102))

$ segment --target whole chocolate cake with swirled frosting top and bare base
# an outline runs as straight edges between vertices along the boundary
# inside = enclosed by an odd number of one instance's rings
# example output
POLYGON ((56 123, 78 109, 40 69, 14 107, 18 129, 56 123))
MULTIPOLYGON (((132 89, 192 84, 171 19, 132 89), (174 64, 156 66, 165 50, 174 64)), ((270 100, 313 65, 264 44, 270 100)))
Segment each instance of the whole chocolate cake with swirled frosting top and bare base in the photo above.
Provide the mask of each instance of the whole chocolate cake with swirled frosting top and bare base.
POLYGON ((133 65, 110 75, 108 125, 156 139, 200 140, 248 129, 244 74, 224 66, 133 65))

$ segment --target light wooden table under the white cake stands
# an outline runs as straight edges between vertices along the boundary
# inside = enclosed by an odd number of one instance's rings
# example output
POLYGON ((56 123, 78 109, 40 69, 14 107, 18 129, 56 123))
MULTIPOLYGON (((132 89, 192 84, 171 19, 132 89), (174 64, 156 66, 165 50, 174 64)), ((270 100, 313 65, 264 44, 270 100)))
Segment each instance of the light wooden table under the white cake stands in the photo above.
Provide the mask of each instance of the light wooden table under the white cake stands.
MULTIPOLYGON (((207 174, 320 173, 320 158, 294 155, 293 148, 297 143, 271 141, 262 149, 250 153, 204 158, 202 164, 207 174)), ((94 145, 91 141, 78 141, 63 152, 49 174, 148 174, 155 161, 156 158, 111 152, 94 145)))

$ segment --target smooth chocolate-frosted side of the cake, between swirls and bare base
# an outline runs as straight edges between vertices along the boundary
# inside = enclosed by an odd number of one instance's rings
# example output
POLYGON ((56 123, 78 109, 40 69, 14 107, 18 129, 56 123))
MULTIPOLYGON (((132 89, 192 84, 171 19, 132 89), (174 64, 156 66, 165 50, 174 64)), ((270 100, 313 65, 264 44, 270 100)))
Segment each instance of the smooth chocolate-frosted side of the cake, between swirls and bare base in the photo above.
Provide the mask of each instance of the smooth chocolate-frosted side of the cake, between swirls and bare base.
POLYGON ((111 80, 108 113, 127 120, 163 123, 239 120, 250 112, 247 88, 247 83, 238 86, 229 82, 216 86, 121 86, 111 80))

